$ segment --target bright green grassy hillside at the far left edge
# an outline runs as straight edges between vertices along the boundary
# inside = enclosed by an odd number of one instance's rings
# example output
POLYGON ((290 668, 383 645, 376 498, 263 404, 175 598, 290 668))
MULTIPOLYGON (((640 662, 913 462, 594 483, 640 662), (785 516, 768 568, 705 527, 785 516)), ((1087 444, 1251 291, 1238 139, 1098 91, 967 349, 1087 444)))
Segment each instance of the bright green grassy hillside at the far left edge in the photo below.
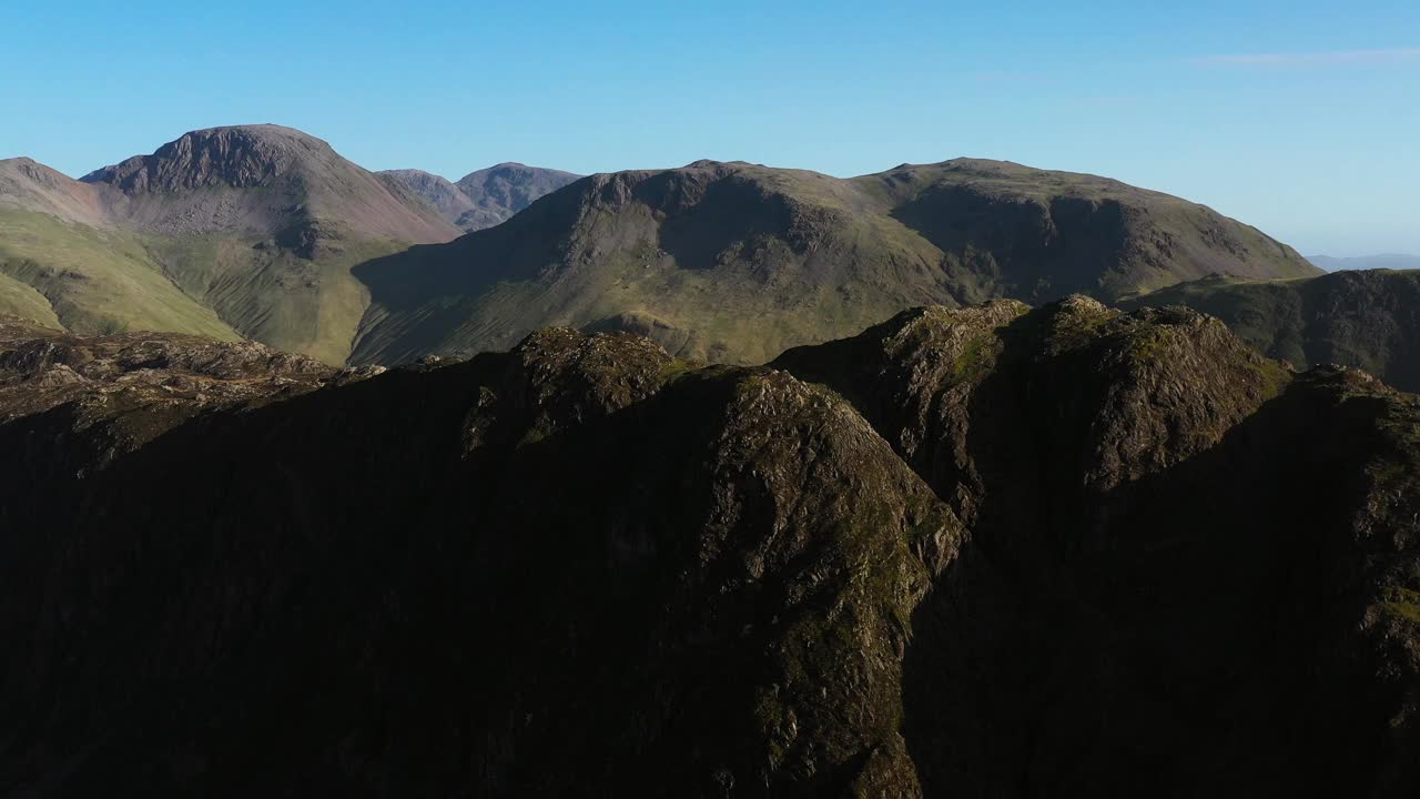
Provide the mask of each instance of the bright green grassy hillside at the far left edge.
POLYGON ((165 277, 143 239, 132 233, 0 212, 0 274, 7 279, 7 310, 75 333, 155 330, 240 338, 165 277))

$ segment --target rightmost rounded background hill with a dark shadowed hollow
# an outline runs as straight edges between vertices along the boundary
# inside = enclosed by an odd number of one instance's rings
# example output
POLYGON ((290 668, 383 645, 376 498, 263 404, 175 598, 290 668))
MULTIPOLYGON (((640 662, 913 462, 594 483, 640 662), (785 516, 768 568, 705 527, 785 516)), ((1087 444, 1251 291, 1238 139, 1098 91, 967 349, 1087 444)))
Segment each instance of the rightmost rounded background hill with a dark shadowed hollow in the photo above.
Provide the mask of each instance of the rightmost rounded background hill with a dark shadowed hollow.
POLYGON ((1093 175, 957 159, 856 179, 944 253, 961 299, 1115 300, 1221 272, 1302 277, 1295 250, 1216 210, 1093 175))

